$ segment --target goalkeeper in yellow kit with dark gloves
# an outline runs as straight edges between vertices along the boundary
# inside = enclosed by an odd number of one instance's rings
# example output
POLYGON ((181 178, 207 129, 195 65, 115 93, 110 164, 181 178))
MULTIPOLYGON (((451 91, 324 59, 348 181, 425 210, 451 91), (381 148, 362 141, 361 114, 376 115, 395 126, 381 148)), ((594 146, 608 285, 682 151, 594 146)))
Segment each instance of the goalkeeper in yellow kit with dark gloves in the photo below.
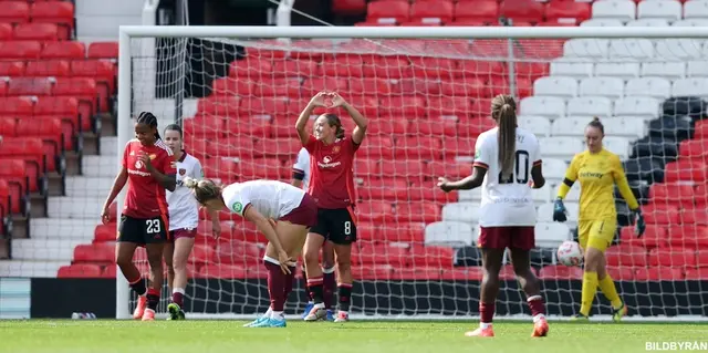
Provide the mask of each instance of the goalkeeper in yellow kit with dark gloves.
POLYGON ((577 235, 580 246, 584 249, 585 255, 581 308, 580 313, 574 318, 576 321, 587 320, 597 287, 612 302, 614 321, 620 321, 622 316, 627 314, 627 307, 617 294, 615 283, 605 269, 605 250, 612 243, 617 228, 615 184, 629 206, 633 218, 636 219, 637 236, 641 237, 646 228, 639 205, 627 184, 620 157, 602 146, 604 135, 604 127, 597 117, 587 124, 585 127, 587 150, 573 157, 553 207, 553 220, 565 221, 566 211, 563 198, 575 180, 580 180, 577 235))

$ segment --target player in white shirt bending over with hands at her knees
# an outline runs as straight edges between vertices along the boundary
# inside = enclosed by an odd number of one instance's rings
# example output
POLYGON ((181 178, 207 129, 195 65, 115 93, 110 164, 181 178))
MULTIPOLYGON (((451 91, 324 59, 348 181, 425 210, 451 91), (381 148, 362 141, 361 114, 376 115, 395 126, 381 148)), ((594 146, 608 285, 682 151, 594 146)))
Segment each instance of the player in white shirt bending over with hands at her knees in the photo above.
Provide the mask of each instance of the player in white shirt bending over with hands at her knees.
POLYGON ((283 328, 283 309, 292 291, 295 261, 308 231, 317 222, 317 206, 309 194, 290 184, 251 180, 222 187, 209 179, 186 178, 197 201, 212 210, 228 208, 256 224, 268 239, 263 264, 268 270, 270 308, 247 324, 250 328, 283 328))

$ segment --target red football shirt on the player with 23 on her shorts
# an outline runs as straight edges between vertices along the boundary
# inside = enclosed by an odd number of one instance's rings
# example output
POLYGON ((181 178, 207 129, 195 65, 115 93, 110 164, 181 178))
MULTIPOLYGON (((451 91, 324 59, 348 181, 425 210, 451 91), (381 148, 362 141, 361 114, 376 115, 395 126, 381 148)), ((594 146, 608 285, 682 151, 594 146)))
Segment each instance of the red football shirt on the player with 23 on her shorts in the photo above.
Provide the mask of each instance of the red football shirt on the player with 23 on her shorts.
POLYGON ((159 173, 177 174, 173 152, 162 139, 153 146, 143 146, 137 139, 129 141, 123 152, 123 166, 128 170, 128 190, 123 214, 142 219, 167 216, 165 187, 157 183, 145 165, 137 159, 142 152, 149 155, 150 164, 159 173))

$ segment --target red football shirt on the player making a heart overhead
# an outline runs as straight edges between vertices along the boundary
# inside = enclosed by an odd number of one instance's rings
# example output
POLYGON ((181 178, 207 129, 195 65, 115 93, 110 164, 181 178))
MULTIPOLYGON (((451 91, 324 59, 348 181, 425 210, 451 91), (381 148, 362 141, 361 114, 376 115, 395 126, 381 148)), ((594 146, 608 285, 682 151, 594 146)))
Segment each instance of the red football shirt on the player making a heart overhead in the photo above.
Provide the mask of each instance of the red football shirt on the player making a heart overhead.
POLYGON ((317 207, 326 209, 347 208, 355 204, 354 154, 358 145, 351 136, 325 145, 310 135, 304 145, 310 153, 310 185, 317 207))

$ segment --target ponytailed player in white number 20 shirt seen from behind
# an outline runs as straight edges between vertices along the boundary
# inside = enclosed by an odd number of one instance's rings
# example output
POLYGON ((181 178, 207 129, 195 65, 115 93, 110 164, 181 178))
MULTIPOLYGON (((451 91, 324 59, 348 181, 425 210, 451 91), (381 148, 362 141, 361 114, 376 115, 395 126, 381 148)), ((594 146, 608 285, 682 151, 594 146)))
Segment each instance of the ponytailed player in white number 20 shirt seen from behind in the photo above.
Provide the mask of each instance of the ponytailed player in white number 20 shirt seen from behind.
POLYGON ((494 335, 491 322, 499 291, 499 271, 504 250, 509 248, 513 270, 533 315, 531 335, 545 336, 549 331, 545 307, 529 257, 530 250, 535 247, 535 208, 531 188, 541 188, 545 184, 540 146, 532 133, 517 127, 517 103, 513 97, 502 94, 496 96, 491 102, 491 117, 497 127, 477 138, 472 175, 459 181, 440 178, 438 184, 446 193, 482 187, 477 241, 485 270, 479 300, 480 325, 466 335, 494 335))

